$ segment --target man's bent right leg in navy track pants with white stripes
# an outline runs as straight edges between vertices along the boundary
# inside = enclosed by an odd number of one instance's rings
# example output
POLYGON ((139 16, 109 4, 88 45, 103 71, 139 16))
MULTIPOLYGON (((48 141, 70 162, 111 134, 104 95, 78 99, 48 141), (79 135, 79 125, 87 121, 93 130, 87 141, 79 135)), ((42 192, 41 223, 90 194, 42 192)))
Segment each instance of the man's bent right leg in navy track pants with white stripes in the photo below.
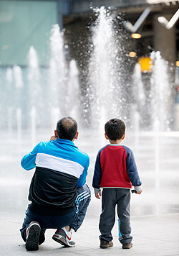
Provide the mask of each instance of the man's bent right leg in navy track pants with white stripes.
POLYGON ((87 206, 91 201, 91 193, 87 184, 81 188, 77 188, 77 198, 76 198, 76 218, 69 226, 77 232, 77 229, 82 225, 82 221, 87 212, 87 206))

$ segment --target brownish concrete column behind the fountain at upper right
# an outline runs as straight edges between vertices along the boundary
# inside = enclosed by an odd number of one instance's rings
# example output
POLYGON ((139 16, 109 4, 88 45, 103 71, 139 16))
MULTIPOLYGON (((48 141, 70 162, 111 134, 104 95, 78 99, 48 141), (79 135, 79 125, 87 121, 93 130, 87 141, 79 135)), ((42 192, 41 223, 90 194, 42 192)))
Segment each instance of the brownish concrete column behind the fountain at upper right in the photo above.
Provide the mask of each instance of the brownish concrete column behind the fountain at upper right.
POLYGON ((170 14, 158 14, 154 16, 154 48, 159 50, 162 57, 169 63, 175 63, 176 61, 176 38, 175 38, 175 25, 171 29, 166 29, 160 22, 158 17, 164 16, 170 20, 173 15, 170 14))

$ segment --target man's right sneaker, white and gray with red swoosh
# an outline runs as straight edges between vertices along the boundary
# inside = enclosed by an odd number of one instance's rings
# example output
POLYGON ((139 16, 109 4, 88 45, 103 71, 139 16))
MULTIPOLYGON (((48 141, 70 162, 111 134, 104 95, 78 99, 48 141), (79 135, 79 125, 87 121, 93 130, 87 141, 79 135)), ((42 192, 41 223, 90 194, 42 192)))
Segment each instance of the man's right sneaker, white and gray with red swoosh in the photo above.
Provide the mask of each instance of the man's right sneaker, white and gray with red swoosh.
POLYGON ((67 232, 67 230, 64 227, 62 227, 62 229, 57 229, 52 239, 64 245, 65 247, 75 246, 75 242, 72 241, 72 229, 70 229, 69 232, 67 232))

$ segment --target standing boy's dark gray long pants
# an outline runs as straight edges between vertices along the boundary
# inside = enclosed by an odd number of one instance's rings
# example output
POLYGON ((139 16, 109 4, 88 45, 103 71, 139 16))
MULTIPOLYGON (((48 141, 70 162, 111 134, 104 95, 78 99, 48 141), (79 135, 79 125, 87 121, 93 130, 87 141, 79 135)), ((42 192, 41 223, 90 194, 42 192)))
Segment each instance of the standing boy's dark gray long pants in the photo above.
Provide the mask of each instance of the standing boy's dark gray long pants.
POLYGON ((127 188, 103 188, 102 191, 102 214, 100 215, 100 240, 111 241, 112 227, 115 224, 115 206, 120 220, 119 240, 122 244, 132 241, 130 236, 130 189, 127 188))

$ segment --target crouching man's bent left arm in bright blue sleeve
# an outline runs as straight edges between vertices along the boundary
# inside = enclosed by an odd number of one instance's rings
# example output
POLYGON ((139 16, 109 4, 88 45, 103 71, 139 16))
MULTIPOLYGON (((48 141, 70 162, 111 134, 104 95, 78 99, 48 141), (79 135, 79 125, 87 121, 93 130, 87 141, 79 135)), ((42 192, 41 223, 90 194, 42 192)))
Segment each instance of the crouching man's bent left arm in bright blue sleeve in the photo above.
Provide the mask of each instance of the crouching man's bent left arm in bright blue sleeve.
POLYGON ((38 148, 39 148, 39 144, 34 147, 32 152, 30 152, 27 155, 24 155, 24 157, 21 160, 22 168, 24 168, 25 170, 31 170, 36 167, 35 160, 37 157, 38 148))

